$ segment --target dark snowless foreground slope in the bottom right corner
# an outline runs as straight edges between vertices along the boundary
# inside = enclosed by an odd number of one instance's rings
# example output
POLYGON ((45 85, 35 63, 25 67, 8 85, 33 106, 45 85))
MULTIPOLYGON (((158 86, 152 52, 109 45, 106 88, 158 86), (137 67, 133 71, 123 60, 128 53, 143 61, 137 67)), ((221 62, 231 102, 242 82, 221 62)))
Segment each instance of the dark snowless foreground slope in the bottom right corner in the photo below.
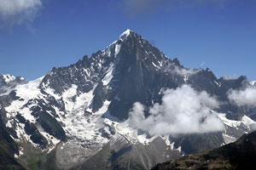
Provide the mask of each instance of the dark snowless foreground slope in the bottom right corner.
POLYGON ((234 143, 218 149, 166 161, 153 170, 171 169, 254 169, 256 132, 244 134, 234 143))

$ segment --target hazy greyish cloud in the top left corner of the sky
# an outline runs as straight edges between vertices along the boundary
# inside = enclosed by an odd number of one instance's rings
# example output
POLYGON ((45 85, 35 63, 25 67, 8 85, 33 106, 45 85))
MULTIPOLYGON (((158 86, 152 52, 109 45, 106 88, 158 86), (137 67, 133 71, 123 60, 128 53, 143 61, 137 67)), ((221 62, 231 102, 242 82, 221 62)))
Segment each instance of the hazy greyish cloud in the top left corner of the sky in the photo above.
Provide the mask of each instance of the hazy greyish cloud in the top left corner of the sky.
POLYGON ((42 8, 41 0, 0 0, 2 26, 12 27, 31 23, 39 8, 42 8))

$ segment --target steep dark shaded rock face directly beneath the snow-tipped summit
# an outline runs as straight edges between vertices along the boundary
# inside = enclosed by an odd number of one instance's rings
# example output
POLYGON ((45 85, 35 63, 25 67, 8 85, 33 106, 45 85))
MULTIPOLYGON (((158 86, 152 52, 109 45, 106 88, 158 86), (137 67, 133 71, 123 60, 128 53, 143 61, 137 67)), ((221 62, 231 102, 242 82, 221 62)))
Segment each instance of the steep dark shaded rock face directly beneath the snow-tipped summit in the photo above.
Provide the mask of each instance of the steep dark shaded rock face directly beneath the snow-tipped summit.
POLYGON ((111 82, 113 95, 116 96, 109 105, 111 115, 124 120, 135 102, 152 105, 160 99, 158 93, 161 88, 176 88, 183 82, 182 77, 176 76, 180 80, 176 82, 175 77, 170 77, 170 73, 165 74, 154 65, 164 67, 175 63, 142 37, 131 33, 120 48, 119 62, 115 66, 111 82))

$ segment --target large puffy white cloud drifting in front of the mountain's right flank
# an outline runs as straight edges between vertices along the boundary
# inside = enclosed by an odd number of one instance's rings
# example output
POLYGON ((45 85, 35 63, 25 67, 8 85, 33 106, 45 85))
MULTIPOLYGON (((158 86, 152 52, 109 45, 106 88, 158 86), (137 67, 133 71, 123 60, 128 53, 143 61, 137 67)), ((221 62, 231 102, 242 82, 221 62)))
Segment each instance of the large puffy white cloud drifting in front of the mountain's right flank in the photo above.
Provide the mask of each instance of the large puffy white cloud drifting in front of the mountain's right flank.
POLYGON ((208 133, 222 131, 223 123, 211 112, 218 101, 207 92, 196 92, 189 85, 168 89, 162 104, 154 104, 149 116, 144 116, 144 106, 135 103, 129 113, 131 127, 151 135, 177 133, 208 133))

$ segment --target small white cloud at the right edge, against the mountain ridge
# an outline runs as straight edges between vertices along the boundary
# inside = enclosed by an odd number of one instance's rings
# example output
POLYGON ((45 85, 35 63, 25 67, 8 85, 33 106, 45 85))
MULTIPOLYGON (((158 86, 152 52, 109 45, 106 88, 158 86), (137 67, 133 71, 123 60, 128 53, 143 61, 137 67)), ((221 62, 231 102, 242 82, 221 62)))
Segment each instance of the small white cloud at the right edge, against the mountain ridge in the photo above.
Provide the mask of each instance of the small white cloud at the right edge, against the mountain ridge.
POLYGON ((228 92, 228 98, 238 106, 256 107, 256 87, 248 86, 241 90, 231 89, 228 92))

